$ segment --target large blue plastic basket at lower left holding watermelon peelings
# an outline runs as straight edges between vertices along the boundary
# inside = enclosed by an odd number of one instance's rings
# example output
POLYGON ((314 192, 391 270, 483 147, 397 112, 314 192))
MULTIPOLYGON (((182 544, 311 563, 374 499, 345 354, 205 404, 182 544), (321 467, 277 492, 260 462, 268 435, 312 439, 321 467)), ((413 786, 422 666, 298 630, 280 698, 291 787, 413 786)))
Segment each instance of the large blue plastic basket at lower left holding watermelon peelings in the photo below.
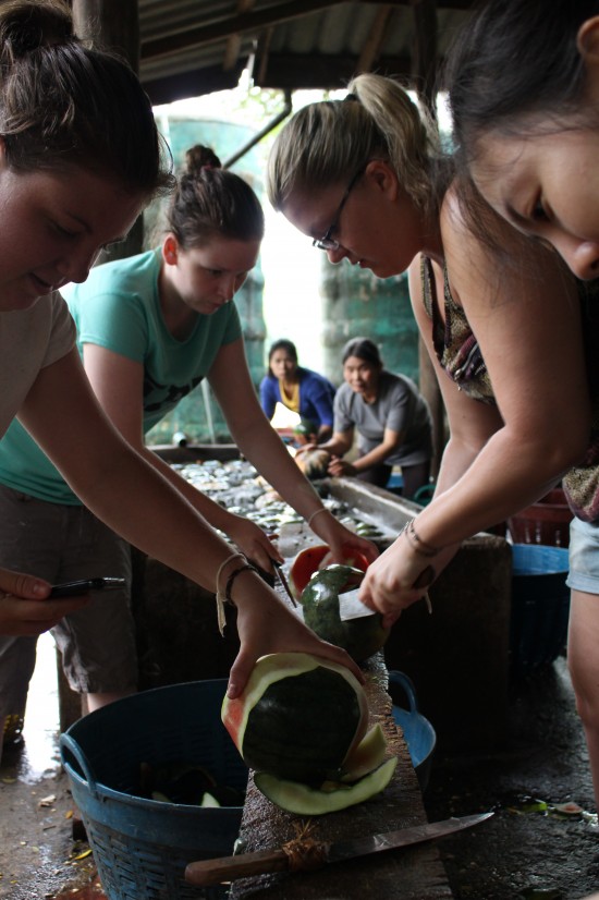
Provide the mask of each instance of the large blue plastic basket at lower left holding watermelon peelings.
POLYGON ((222 898, 197 888, 187 863, 230 855, 243 806, 203 808, 146 800, 140 764, 188 762, 245 790, 248 770, 220 719, 225 679, 145 691, 76 721, 61 735, 62 763, 109 900, 222 898))

